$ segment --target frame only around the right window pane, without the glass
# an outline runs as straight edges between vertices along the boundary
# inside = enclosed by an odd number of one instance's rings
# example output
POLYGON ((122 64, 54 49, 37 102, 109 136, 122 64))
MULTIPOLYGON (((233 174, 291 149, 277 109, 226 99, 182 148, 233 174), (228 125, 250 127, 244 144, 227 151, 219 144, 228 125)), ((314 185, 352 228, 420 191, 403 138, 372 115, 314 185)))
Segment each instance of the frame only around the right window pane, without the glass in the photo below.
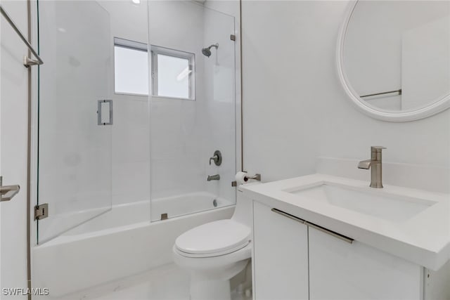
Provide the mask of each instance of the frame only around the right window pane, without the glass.
POLYGON ((195 100, 195 53, 150 45, 150 57, 151 57, 150 69, 152 78, 150 87, 151 96, 158 98, 195 100), (188 60, 189 71, 191 71, 188 74, 188 89, 189 89, 188 98, 158 95, 158 54, 188 60))

